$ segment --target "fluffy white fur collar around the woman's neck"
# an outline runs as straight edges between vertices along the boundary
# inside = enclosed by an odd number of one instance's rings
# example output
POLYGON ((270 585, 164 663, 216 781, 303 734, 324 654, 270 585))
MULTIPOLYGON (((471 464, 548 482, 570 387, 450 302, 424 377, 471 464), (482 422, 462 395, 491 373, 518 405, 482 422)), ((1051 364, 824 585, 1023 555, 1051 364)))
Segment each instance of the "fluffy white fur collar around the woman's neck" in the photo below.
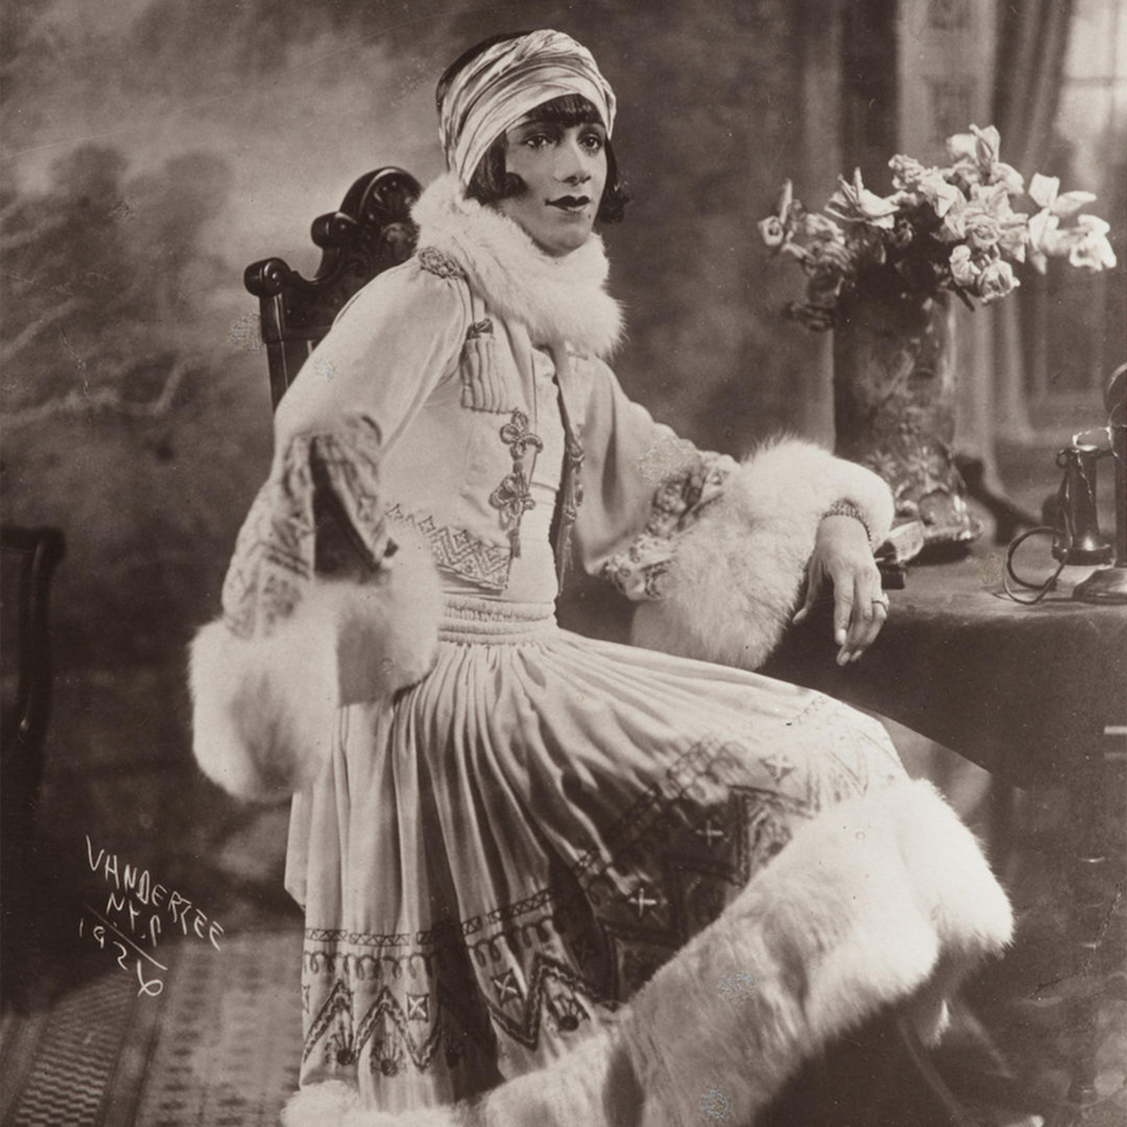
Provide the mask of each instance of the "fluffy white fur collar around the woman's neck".
POLYGON ((605 290, 609 267, 597 234, 553 258, 500 212, 467 199, 449 172, 423 193, 414 216, 419 247, 434 247, 458 263, 499 316, 527 327, 533 344, 566 341, 597 356, 613 352, 622 313, 605 290))

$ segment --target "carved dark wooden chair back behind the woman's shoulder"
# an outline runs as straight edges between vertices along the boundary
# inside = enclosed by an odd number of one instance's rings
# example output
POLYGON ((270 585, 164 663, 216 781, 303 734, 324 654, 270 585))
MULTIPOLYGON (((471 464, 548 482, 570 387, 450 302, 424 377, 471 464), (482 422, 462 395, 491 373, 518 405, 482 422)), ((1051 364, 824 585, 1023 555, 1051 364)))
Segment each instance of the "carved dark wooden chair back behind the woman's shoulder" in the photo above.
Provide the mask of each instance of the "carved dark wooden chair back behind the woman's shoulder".
POLYGON ((243 284, 258 299, 275 408, 348 299, 411 256, 418 231, 410 208, 419 192, 418 180, 402 169, 366 172, 337 211, 313 220, 321 261, 312 278, 281 258, 247 267, 243 284))

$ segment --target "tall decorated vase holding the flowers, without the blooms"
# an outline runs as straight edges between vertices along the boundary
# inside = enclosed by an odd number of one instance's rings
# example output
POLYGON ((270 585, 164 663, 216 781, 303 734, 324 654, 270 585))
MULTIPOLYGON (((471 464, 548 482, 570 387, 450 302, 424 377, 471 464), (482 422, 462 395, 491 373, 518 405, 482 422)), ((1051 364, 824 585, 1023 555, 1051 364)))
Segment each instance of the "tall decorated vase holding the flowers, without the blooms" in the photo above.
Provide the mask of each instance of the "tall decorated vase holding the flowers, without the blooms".
POLYGON ((891 486, 896 522, 920 521, 930 557, 957 554, 978 534, 953 459, 956 362, 949 295, 842 294, 835 450, 891 486))

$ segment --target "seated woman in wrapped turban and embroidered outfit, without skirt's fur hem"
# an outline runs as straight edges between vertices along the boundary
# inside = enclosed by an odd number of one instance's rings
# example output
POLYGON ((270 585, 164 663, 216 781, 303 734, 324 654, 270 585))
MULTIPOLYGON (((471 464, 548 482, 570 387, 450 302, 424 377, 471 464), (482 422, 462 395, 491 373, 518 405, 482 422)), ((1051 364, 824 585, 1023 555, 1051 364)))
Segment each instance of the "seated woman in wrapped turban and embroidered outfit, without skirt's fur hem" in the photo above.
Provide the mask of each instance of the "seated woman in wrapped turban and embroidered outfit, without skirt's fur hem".
POLYGON ((390 1110, 566 1053, 799 823, 902 775, 879 725, 746 672, 807 574, 838 660, 873 640, 888 489, 805 443, 700 454, 601 358, 592 228, 623 196, 589 53, 487 41, 438 110, 419 249, 286 393, 193 655, 204 769, 296 792, 302 1084, 390 1110), (693 656, 560 630, 570 558, 641 601, 636 640, 693 656))

